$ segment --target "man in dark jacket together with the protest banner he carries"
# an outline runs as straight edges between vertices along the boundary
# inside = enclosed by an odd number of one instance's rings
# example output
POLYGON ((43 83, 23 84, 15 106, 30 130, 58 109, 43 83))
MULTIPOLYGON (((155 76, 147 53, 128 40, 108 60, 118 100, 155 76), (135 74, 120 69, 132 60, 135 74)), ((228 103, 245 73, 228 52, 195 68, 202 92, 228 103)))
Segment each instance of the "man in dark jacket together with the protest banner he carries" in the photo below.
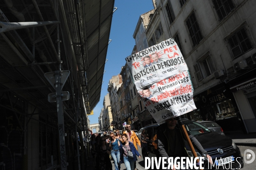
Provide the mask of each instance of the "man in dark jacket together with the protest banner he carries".
MULTIPOLYGON (((166 122, 160 125, 157 131, 161 156, 188 157, 184 139, 188 141, 194 157, 197 157, 194 147, 201 154, 207 155, 197 139, 192 135, 188 136, 184 125, 177 125, 175 120, 196 107, 188 67, 174 39, 165 40, 132 54, 126 61, 138 94, 144 98, 144 106, 157 123, 166 122)), ((182 123, 181 118, 179 120, 182 123)), ((209 155, 207 157, 210 158, 209 155)))

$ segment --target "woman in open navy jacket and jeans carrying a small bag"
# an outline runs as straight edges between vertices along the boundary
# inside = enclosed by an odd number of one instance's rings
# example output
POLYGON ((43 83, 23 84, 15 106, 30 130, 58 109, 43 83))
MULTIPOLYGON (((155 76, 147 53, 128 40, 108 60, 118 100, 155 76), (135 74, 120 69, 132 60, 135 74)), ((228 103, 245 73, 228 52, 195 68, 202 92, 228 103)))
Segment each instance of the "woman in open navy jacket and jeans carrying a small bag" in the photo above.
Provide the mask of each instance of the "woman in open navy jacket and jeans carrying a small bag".
POLYGON ((136 150, 134 144, 128 141, 127 134, 122 134, 123 143, 119 144, 121 163, 125 164, 127 170, 134 170, 134 162, 137 161, 137 157, 141 158, 141 155, 136 150), (131 154, 132 153, 132 154, 131 154))

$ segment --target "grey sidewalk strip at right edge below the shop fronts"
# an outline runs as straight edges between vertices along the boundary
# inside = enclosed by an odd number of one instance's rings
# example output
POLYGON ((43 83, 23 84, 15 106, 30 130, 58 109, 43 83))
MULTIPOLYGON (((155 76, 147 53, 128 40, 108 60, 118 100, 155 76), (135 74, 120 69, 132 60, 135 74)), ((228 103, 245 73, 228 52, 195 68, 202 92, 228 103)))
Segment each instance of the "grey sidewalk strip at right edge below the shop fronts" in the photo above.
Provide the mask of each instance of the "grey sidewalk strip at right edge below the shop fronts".
POLYGON ((226 134, 236 145, 256 147, 256 133, 249 134, 226 134))

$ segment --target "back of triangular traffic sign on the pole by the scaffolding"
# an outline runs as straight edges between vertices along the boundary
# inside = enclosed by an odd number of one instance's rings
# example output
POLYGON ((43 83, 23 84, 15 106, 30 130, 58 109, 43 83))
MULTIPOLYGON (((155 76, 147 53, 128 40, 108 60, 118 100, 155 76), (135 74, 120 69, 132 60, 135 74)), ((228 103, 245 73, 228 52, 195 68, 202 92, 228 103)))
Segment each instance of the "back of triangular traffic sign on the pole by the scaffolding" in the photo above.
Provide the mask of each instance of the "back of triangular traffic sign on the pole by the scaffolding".
MULTIPOLYGON (((62 90, 64 84, 66 83, 69 74, 70 74, 70 71, 68 71, 68 70, 59 72, 61 90, 62 90)), ((47 81, 49 81, 49 83, 53 86, 53 88, 56 89, 54 72, 46 72, 46 73, 44 73, 44 77, 47 79, 47 81)))

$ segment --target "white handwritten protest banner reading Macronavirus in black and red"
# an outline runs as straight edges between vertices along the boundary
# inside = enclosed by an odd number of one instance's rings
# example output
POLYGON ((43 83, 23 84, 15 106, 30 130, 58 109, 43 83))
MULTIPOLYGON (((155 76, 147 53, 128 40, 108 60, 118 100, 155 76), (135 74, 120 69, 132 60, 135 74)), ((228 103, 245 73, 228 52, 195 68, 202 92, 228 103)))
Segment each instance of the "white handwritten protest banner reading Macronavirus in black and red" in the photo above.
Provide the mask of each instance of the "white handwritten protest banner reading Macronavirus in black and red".
POLYGON ((196 109, 188 67, 174 39, 126 58, 144 106, 160 123, 196 109))

